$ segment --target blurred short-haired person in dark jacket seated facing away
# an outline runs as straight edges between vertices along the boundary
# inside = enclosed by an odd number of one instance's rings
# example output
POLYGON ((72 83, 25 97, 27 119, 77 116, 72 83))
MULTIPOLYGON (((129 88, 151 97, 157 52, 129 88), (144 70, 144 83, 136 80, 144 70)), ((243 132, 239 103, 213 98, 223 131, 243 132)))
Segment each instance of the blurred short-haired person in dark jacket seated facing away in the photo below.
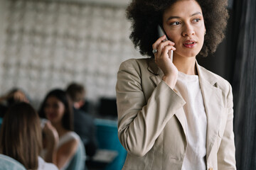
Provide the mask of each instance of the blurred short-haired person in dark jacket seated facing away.
POLYGON ((92 157, 97 151, 94 118, 80 109, 85 103, 85 88, 73 82, 68 85, 66 92, 73 103, 74 130, 84 143, 86 154, 92 157))

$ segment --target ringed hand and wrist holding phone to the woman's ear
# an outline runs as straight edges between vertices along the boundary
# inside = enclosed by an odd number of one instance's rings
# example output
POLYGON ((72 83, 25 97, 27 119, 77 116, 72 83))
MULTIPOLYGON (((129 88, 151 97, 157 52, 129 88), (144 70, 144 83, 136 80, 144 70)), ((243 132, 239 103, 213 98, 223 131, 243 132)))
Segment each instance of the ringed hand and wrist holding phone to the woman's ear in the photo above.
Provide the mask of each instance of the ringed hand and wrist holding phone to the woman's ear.
POLYGON ((164 72, 163 80, 171 89, 174 89, 178 79, 178 69, 171 61, 171 50, 176 50, 176 48, 174 47, 174 42, 170 40, 164 41, 165 39, 166 35, 163 35, 152 45, 153 49, 157 50, 154 53, 154 59, 158 67, 164 72))

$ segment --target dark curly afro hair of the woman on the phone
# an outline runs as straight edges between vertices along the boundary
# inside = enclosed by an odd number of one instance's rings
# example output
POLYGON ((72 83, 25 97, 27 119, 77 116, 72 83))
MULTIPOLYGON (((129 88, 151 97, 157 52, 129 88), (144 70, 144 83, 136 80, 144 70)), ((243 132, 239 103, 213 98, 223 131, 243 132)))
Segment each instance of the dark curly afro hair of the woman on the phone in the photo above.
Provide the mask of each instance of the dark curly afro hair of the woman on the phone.
MULTIPOLYGON (((153 57, 152 45, 158 39, 157 26, 164 11, 178 0, 132 0, 127 7, 127 18, 132 22, 129 38, 142 55, 153 57)), ((206 57, 215 52, 225 38, 228 21, 228 0, 196 0, 203 11, 206 35, 199 56, 206 57)))

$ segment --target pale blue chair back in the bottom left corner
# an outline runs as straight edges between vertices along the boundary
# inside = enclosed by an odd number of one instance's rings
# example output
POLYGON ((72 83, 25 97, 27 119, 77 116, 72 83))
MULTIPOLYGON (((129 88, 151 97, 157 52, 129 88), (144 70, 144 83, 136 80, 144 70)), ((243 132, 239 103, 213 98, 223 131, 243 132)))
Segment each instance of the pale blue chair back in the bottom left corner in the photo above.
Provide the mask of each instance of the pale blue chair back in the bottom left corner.
POLYGON ((4 154, 0 154, 0 170, 26 170, 23 164, 19 163, 15 159, 8 157, 4 154))

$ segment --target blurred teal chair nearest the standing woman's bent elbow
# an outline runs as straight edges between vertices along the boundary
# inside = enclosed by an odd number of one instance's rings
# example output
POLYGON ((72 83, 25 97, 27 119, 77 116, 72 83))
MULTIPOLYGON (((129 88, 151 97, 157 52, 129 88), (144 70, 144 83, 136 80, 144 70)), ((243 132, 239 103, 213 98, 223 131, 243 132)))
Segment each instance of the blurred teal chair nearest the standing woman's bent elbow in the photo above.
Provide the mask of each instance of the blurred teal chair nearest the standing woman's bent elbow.
POLYGON ((104 170, 120 170, 124 165, 127 151, 122 147, 117 136, 117 121, 95 119, 96 137, 99 149, 117 151, 117 157, 107 164, 104 170))

